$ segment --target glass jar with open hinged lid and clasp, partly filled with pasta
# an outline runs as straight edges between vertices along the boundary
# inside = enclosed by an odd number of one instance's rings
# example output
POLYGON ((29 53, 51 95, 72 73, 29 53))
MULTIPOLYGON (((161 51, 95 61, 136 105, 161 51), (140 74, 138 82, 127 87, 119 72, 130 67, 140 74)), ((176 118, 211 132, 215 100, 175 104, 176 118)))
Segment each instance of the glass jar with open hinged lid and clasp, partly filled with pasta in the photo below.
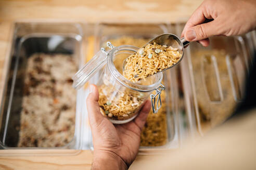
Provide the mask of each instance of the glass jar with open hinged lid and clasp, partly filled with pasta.
POLYGON ((101 48, 73 77, 73 87, 78 89, 97 73, 100 112, 114 124, 122 124, 133 120, 145 101, 150 96, 153 112, 161 107, 162 73, 152 75, 137 83, 123 77, 123 61, 135 53, 134 46, 113 47, 107 43, 109 51, 101 48), (119 65, 119 67, 117 67, 119 65), (119 68, 119 70, 117 69, 119 68), (156 92, 151 94, 154 90, 156 92))

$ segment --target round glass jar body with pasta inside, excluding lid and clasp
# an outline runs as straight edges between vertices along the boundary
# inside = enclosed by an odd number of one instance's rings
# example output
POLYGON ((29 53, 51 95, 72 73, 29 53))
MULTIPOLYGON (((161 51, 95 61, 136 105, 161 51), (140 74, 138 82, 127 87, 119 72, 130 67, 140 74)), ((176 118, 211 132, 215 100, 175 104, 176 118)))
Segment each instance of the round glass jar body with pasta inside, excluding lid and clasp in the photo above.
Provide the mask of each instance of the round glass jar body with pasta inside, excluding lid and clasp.
POLYGON ((126 123, 134 119, 149 95, 162 80, 162 74, 140 82, 127 80, 120 63, 137 51, 137 47, 119 46, 110 51, 107 65, 97 83, 100 112, 112 123, 126 123))

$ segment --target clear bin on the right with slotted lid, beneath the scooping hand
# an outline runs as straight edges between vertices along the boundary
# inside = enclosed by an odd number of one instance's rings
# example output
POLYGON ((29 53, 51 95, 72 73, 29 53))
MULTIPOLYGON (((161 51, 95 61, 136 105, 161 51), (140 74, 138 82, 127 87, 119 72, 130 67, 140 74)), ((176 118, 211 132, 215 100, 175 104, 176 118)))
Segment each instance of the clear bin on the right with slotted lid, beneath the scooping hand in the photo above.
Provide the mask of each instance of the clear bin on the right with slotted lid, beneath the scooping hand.
MULTIPOLYGON (((180 35, 184 24, 170 27, 180 35)), ((181 64, 185 104, 200 135, 227 120, 242 101, 255 50, 253 34, 211 37, 207 48, 198 43, 186 48, 181 64)))

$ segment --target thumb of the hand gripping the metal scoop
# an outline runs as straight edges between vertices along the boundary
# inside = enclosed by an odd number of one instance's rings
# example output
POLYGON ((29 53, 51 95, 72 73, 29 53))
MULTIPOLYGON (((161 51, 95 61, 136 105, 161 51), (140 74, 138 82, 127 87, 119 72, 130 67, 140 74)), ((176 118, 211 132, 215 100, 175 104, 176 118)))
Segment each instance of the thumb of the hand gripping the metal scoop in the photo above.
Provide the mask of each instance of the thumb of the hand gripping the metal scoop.
POLYGON ((190 27, 185 33, 185 39, 188 41, 198 41, 214 35, 219 35, 219 33, 219 24, 217 24, 216 20, 213 20, 208 23, 190 27))

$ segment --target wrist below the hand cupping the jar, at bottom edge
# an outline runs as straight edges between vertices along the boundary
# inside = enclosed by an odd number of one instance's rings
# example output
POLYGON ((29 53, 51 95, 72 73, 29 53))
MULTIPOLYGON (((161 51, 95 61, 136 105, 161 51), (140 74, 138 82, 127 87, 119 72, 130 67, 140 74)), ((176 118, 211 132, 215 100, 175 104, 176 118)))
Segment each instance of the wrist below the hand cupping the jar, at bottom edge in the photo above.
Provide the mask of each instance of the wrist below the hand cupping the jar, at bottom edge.
POLYGON ((128 169, 128 167, 116 153, 107 150, 95 150, 92 170, 94 169, 128 169))

